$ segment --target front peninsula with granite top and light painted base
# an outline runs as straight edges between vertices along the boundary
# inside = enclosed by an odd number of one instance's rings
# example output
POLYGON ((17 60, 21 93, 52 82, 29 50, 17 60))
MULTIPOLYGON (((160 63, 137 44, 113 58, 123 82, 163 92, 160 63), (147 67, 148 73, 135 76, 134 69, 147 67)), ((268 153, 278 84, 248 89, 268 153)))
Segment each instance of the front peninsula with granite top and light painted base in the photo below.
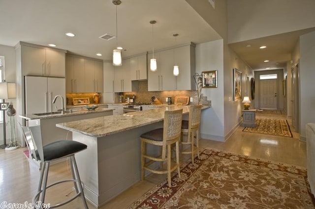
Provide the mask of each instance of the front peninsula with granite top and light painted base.
MULTIPOLYGON (((88 146, 76 154, 76 161, 90 202, 99 207, 141 180, 140 135, 162 128, 164 111, 179 108, 183 108, 183 114, 189 112, 189 106, 160 105, 150 110, 56 125, 72 131, 73 140, 88 146)), ((148 150, 158 153, 155 148, 148 150)))

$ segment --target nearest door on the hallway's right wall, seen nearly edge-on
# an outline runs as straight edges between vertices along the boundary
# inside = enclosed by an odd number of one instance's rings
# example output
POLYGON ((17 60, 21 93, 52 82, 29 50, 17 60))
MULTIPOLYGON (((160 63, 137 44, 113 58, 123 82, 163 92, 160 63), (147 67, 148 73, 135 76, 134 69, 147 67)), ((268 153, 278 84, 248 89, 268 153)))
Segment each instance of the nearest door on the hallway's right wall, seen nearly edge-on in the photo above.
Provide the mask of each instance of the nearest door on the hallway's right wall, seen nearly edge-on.
POLYGON ((292 126, 295 132, 299 132, 299 66, 296 65, 291 70, 291 86, 292 86, 292 126))

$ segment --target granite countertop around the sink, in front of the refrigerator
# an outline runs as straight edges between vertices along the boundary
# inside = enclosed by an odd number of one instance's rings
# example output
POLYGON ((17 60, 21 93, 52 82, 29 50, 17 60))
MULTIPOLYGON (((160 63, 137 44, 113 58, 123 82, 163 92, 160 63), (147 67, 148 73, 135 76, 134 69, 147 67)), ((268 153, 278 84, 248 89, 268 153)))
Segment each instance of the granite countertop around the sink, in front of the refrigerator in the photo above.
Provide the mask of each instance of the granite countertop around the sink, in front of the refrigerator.
POLYGON ((112 108, 102 108, 98 107, 95 110, 87 110, 87 109, 80 109, 80 110, 72 110, 71 113, 58 113, 58 114, 48 114, 48 115, 35 115, 35 114, 24 114, 19 115, 21 118, 27 119, 27 120, 35 120, 35 119, 48 119, 48 118, 59 118, 59 117, 67 117, 67 116, 73 116, 73 115, 82 115, 82 114, 90 114, 90 113, 96 113, 96 112, 107 112, 107 111, 113 111, 112 108))

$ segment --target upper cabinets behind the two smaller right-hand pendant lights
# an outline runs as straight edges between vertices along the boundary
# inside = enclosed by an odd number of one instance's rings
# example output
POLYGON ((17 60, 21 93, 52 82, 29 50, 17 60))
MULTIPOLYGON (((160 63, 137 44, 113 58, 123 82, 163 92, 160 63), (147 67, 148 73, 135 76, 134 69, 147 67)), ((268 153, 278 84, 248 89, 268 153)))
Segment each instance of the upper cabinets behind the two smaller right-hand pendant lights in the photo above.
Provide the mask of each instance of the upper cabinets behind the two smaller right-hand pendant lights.
MULTIPOLYGON (((158 69, 155 72, 148 70, 148 90, 193 90, 195 85, 193 75, 195 73, 195 46, 193 44, 163 50, 155 53, 158 69), (175 57, 174 57, 175 54, 175 57), (173 66, 179 66, 179 75, 173 75, 173 66)), ((148 55, 148 66, 150 58, 148 55)), ((148 67, 150 69, 150 66, 148 67)))

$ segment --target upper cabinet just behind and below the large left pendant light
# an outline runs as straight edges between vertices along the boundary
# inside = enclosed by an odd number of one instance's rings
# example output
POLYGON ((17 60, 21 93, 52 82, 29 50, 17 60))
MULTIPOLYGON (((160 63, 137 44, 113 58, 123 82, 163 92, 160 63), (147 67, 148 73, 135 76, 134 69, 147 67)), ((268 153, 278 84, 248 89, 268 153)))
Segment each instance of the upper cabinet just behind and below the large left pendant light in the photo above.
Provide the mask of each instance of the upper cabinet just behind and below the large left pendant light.
POLYGON ((131 91, 130 58, 124 59, 122 66, 115 67, 114 90, 115 92, 131 91))

